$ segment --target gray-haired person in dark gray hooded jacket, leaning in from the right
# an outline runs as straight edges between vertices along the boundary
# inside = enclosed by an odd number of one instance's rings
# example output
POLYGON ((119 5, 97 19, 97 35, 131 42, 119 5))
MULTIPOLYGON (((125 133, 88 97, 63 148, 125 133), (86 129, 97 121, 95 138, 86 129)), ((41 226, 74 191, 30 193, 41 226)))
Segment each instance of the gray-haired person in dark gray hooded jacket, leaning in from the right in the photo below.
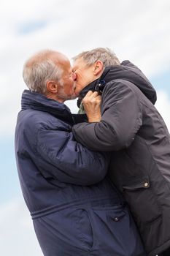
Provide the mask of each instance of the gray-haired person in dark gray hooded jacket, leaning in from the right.
POLYGON ((141 70, 120 64, 107 48, 80 53, 73 70, 79 103, 91 90, 82 101, 89 123, 74 125, 74 137, 91 150, 112 151, 109 177, 128 202, 148 255, 170 255, 170 136, 153 105, 155 90, 141 70), (102 93, 101 113, 92 91, 102 93))

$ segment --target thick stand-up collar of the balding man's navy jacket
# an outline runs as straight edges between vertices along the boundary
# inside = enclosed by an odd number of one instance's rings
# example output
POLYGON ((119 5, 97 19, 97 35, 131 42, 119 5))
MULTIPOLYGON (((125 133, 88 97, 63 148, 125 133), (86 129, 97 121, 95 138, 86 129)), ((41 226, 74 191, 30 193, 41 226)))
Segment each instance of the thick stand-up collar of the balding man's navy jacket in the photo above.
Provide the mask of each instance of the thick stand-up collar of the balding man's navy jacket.
POLYGON ((44 111, 57 118, 60 118, 63 121, 69 121, 70 123, 73 123, 72 113, 65 104, 54 99, 49 99, 42 94, 29 90, 23 91, 21 109, 44 111))

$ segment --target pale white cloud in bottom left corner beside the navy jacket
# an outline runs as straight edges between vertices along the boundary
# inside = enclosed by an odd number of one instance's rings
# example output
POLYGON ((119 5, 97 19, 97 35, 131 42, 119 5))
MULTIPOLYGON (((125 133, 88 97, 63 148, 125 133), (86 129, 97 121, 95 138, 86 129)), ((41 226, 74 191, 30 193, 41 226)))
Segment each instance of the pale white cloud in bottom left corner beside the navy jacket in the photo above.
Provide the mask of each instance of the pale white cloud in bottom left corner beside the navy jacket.
POLYGON ((31 216, 23 200, 18 198, 1 205, 0 212, 1 255, 42 256, 31 216))

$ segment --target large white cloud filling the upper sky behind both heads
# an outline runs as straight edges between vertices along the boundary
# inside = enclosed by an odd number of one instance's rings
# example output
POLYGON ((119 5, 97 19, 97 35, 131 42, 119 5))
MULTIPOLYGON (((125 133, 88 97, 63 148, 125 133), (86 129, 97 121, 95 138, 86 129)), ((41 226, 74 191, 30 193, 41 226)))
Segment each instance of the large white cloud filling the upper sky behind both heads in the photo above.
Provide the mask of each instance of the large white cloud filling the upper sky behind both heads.
MULTIPOLYGON (((153 76, 170 64, 169 11, 169 0, 2 0, 0 134, 14 132, 20 96, 26 89, 23 62, 32 53, 53 48, 72 57, 104 46, 153 76), (42 28, 19 33, 21 27, 41 21, 42 28)), ((75 104, 70 107, 75 110, 75 104)))

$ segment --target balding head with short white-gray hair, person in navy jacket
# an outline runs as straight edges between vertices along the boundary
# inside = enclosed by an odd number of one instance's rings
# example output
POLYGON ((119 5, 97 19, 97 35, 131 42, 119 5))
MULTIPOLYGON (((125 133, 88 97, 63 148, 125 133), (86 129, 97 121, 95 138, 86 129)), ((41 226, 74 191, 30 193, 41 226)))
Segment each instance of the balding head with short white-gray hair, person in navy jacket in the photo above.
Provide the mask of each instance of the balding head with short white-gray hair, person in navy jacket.
POLYGON ((45 94, 48 80, 61 79, 62 69, 51 58, 55 51, 42 50, 32 56, 23 66, 23 80, 31 91, 45 94))

